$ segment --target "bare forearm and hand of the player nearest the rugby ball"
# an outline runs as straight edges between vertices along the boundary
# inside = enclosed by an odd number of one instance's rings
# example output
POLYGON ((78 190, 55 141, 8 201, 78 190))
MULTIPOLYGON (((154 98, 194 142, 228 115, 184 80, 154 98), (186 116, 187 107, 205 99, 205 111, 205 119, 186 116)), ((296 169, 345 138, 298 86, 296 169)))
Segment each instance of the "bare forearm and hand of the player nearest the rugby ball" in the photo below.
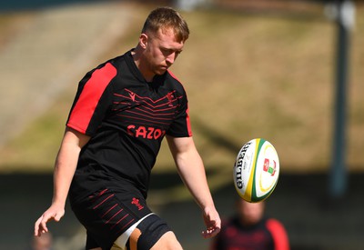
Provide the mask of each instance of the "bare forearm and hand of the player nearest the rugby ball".
POLYGON ((204 164, 193 138, 167 136, 167 142, 179 175, 203 211, 207 229, 202 235, 205 238, 217 235, 221 228, 221 220, 207 185, 204 164))

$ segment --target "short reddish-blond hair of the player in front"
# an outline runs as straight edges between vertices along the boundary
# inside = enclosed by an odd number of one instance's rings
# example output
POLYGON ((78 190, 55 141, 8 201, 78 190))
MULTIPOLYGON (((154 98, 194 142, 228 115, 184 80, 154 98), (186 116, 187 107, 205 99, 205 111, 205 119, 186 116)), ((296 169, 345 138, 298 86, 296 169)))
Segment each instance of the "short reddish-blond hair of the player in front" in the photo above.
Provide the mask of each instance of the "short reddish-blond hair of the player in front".
POLYGON ((178 42, 185 42, 189 36, 189 29, 185 19, 171 7, 158 7, 148 16, 143 25, 142 33, 157 33, 172 28, 178 42))

